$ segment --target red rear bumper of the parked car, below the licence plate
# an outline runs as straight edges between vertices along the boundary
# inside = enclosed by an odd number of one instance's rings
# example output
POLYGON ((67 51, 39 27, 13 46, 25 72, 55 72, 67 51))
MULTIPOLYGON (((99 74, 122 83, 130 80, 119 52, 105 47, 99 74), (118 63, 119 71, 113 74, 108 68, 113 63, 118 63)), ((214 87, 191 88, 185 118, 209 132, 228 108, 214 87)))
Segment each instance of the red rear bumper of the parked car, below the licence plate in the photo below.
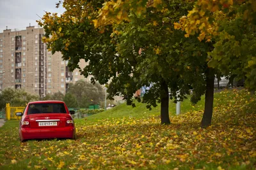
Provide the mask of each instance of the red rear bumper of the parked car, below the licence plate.
POLYGON ((20 139, 45 139, 45 138, 74 138, 76 133, 75 127, 58 127, 58 128, 21 128, 20 139))

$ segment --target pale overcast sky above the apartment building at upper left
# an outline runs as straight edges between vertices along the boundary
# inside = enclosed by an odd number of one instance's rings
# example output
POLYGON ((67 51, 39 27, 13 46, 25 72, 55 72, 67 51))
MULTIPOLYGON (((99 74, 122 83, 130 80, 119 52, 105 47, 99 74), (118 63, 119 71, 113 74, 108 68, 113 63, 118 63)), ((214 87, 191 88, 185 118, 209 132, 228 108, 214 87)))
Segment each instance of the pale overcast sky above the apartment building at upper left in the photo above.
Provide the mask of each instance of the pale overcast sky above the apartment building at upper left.
POLYGON ((64 9, 55 8, 58 0, 0 0, 0 32, 8 29, 26 29, 38 25, 37 16, 42 17, 44 11, 63 13, 64 9), (37 14, 37 15, 36 15, 37 14))

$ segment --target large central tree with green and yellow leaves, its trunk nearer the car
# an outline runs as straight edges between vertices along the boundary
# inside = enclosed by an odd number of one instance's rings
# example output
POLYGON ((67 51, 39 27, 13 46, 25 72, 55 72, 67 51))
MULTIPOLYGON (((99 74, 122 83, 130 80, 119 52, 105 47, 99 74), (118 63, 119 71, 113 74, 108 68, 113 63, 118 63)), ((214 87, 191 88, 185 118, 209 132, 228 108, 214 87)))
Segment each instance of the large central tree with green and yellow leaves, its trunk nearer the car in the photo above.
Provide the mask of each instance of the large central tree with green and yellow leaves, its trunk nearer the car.
POLYGON ((153 85, 142 102, 147 108, 161 103, 162 124, 170 124, 169 96, 177 101, 179 90, 182 100, 191 87, 195 103, 206 90, 209 100, 205 113, 211 115, 214 72, 207 67, 206 53, 211 43, 201 43, 196 36, 186 39, 183 31, 173 28, 173 23, 191 10, 193 1, 103 3, 64 1, 66 11, 60 17, 46 13, 39 24, 44 26, 45 42, 52 53, 63 53, 71 70, 79 68, 80 59, 90 61, 79 69, 86 77, 92 74, 93 83, 111 79, 109 99, 122 94, 127 104, 135 106, 134 92, 153 85))

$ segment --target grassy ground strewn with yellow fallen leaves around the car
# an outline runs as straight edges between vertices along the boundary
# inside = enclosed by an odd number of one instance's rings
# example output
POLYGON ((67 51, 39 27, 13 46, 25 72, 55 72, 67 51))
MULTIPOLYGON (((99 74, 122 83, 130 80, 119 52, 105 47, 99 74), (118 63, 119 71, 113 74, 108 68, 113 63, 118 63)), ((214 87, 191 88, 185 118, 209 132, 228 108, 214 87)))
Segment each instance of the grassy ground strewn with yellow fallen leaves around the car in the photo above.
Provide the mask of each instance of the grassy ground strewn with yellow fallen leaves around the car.
POLYGON ((212 126, 200 128, 202 110, 76 121, 77 140, 20 143, 18 122, 0 128, 0 169, 256 169, 256 100, 244 90, 214 100, 212 126))

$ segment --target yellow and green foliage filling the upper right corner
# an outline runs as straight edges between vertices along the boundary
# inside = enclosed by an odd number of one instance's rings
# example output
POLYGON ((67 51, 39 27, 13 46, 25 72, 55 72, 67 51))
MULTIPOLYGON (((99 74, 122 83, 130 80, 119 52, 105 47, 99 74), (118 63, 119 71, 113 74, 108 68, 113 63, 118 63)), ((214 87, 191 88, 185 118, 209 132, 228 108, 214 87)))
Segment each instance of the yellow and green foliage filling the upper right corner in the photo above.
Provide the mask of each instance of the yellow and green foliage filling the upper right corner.
POLYGON ((209 66, 231 73, 231 81, 245 79, 246 87, 256 90, 256 1, 196 1, 177 27, 187 36, 200 32, 200 41, 214 41, 209 66))

